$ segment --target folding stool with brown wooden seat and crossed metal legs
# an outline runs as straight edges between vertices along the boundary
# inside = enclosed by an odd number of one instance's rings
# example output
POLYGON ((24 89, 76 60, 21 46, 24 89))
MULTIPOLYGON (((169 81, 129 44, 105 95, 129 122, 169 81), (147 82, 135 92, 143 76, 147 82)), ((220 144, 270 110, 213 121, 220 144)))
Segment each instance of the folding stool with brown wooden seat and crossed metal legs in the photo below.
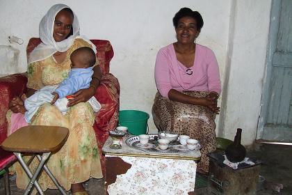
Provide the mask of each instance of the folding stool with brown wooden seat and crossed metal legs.
POLYGON ((3 150, 7 150, 15 154, 19 163, 22 165, 22 168, 31 179, 24 194, 30 194, 33 186, 35 186, 39 194, 44 194, 37 181, 42 169, 47 172, 60 192, 62 194, 67 194, 63 187, 58 184, 51 171, 49 171, 46 163, 51 153, 56 153, 60 150, 60 148, 62 148, 64 143, 67 141, 68 136, 69 130, 65 127, 35 125, 21 127, 19 130, 11 134, 5 141, 3 141, 1 144, 3 150), (24 153, 33 154, 29 162, 31 162, 35 156, 38 157, 40 164, 35 170, 35 173, 31 173, 29 164, 24 162, 24 159, 22 158, 24 153))

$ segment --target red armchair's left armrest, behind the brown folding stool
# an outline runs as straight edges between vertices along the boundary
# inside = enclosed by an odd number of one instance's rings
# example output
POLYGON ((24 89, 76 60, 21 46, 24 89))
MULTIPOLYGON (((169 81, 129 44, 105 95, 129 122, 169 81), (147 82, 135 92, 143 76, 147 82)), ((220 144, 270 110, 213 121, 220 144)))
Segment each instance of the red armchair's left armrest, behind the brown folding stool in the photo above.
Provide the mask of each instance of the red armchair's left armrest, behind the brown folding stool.
POLYGON ((26 74, 15 74, 0 78, 0 143, 7 137, 6 113, 9 102, 15 96, 20 96, 26 91, 26 74))

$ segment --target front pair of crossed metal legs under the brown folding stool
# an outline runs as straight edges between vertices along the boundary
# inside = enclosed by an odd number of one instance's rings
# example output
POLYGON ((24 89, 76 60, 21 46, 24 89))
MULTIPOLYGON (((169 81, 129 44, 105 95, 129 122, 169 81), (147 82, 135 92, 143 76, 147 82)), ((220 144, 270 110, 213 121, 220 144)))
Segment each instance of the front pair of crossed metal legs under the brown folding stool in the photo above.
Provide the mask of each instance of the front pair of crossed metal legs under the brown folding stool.
POLYGON ((42 161, 38 165, 38 168, 36 169, 34 174, 31 173, 31 170, 29 169, 29 166, 27 166, 26 163, 24 162, 24 159, 22 159, 22 154, 21 153, 14 153, 14 154, 17 157, 19 163, 22 165, 22 168, 24 169, 26 174, 31 179, 31 181, 29 182, 29 185, 26 187, 26 191, 24 192, 24 194, 25 195, 30 194, 32 189, 33 189, 33 185, 38 190, 39 194, 44 194, 44 192, 42 191, 42 188, 38 184, 38 181, 36 180, 36 178, 38 177, 38 174, 40 173, 40 171, 42 171, 42 166, 44 165, 44 163, 48 159, 49 155, 51 155, 51 153, 43 153, 42 154, 42 156, 43 156, 42 161))

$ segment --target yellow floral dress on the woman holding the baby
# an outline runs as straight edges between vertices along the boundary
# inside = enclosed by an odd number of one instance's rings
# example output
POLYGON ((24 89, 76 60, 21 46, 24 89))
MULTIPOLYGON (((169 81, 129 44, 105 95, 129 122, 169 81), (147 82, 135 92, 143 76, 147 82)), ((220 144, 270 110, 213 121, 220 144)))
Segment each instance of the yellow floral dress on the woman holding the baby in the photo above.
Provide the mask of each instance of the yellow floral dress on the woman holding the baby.
MULTIPOLYGON (((91 47, 85 40, 76 39, 72 47, 67 50, 66 58, 62 63, 57 63, 53 56, 31 63, 28 69, 27 87, 39 90, 47 85, 60 84, 63 79, 67 78, 70 71, 70 54, 75 49, 84 46, 91 47)), ((8 111, 9 123, 10 116, 11 111, 8 111)), ((70 107, 65 115, 61 114, 54 105, 44 104, 38 109, 31 121, 31 125, 61 126, 70 130, 69 137, 63 148, 58 153, 51 155, 47 163, 60 185, 66 190, 71 188, 71 184, 84 182, 90 177, 103 178, 97 140, 95 131, 92 128, 95 116, 88 102, 82 102, 70 107)), ((31 163, 31 169, 36 169, 38 164, 36 160, 34 159, 31 163)), ((14 169, 17 173, 17 187, 25 189, 29 178, 18 163, 15 164, 14 169)), ((40 176, 39 183, 43 190, 56 188, 44 171, 40 176)), ((35 194, 35 192, 36 190, 34 189, 33 193, 35 194)))

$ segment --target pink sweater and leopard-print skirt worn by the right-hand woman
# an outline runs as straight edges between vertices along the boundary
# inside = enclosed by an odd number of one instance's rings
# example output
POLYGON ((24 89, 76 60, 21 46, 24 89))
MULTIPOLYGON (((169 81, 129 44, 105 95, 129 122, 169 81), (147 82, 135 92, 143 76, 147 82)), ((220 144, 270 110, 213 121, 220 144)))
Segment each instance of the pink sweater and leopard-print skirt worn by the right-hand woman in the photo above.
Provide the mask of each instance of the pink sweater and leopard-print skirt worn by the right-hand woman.
POLYGON ((155 82, 158 89, 152 107, 156 127, 198 139, 202 145, 198 169, 208 172, 208 153, 216 150, 216 114, 203 106, 184 104, 168 99, 170 89, 194 98, 204 98, 211 91, 220 94, 220 75, 216 56, 211 49, 195 44, 193 66, 187 68, 177 59, 170 44, 159 50, 155 63, 155 82), (192 71, 191 74, 188 74, 192 71))

